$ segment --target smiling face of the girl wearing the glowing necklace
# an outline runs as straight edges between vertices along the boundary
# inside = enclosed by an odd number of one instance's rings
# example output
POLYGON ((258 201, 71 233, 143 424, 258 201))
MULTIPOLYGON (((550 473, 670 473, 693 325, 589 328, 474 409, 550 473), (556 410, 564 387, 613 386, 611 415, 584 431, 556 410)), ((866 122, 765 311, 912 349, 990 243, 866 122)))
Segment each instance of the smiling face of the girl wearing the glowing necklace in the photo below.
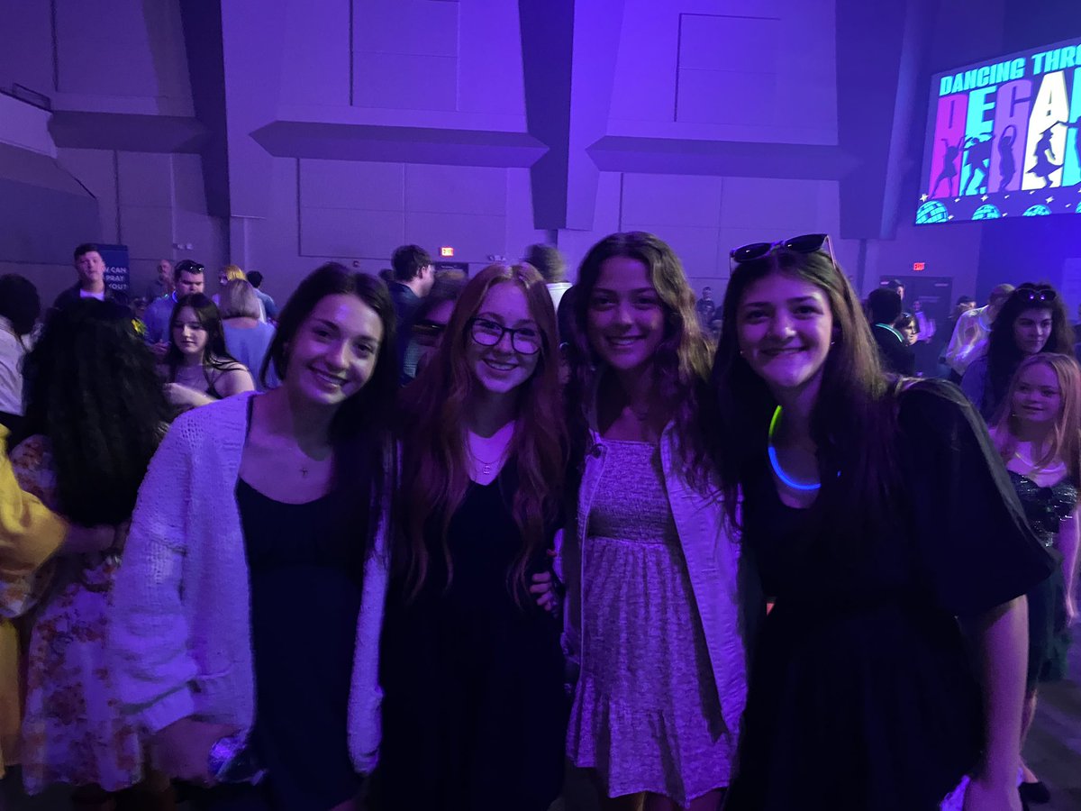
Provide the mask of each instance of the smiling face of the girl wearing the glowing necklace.
POLYGON ((822 288, 776 270, 747 287, 736 318, 739 354, 775 396, 818 386, 833 331, 822 288))

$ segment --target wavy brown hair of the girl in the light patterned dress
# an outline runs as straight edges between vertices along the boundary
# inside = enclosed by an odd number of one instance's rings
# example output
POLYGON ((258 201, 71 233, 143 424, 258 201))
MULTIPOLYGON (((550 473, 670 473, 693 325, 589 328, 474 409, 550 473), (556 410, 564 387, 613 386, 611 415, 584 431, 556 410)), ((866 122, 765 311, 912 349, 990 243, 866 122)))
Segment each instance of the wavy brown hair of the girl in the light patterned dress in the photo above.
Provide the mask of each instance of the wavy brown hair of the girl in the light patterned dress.
MULTIPOLYGON (((568 345, 570 378, 566 384, 566 422, 571 436, 573 484, 580 480, 589 443, 589 414, 598 375, 603 373, 600 358, 589 342, 587 329, 593 288, 601 265, 614 256, 638 260, 660 298, 665 333, 657 347, 653 370, 665 402, 677 403, 675 421, 678 447, 690 466, 692 481, 702 484, 709 476, 709 458, 699 431, 699 413, 709 399, 707 386, 712 351, 698 316, 695 295, 676 252, 658 237, 644 231, 612 234, 589 249, 578 268, 578 281, 571 303, 571 334, 568 345)), ((566 297, 564 297, 566 301, 566 297)))

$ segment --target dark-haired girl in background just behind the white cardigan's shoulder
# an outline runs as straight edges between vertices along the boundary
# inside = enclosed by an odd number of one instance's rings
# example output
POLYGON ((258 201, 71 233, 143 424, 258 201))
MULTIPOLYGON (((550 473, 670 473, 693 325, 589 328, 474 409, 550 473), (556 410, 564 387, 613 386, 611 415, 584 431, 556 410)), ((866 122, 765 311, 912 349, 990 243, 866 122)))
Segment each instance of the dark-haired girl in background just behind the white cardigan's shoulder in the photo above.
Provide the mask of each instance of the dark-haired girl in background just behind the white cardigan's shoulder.
POLYGON ((252 373, 225 348, 217 306, 202 293, 177 300, 162 362, 165 398, 181 412, 255 389, 252 373))

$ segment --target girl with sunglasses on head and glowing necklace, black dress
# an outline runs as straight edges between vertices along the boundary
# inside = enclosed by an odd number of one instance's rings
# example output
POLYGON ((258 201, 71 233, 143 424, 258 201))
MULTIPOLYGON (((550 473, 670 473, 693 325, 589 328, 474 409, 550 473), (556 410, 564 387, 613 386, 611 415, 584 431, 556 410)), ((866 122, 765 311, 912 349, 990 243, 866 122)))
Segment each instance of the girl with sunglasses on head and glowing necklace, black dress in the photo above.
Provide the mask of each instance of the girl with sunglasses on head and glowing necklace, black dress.
POLYGON ((883 374, 824 235, 733 257, 710 425, 773 608, 726 809, 930 811, 965 774, 966 811, 1019 809, 1024 595, 1053 562, 983 422, 883 374))

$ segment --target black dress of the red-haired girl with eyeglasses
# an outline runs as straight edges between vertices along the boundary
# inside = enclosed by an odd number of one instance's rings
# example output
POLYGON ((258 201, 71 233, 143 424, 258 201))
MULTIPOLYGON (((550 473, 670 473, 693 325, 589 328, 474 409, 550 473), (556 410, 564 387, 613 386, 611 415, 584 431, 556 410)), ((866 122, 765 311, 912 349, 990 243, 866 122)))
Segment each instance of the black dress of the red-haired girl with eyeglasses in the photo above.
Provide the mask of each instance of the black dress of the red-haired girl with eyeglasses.
MULTIPOLYGON (((379 653, 382 811, 543 811, 563 781, 568 701, 556 617, 516 604, 507 572, 521 537, 513 475, 470 484, 446 535, 435 532, 425 585, 406 601, 393 576, 379 653)), ((530 574, 547 569, 542 553, 530 574)))

